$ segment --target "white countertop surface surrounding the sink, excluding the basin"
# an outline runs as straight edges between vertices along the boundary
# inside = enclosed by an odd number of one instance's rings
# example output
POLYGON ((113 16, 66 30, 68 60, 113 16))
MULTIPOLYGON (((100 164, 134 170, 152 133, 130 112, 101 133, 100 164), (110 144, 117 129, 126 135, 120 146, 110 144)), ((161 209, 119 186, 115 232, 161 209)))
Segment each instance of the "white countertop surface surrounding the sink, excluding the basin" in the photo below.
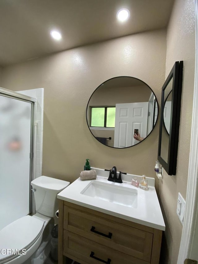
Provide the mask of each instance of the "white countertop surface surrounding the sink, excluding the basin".
MULTIPOLYGON (((136 175, 126 175, 123 178, 123 183, 114 183, 107 181, 108 172, 101 169, 97 170, 97 179, 100 182, 105 182, 112 185, 121 185, 127 188, 134 188, 137 190, 137 208, 131 208, 128 206, 116 204, 109 201, 103 201, 99 198, 90 197, 84 194, 81 194, 82 190, 86 188, 86 186, 95 180, 80 180, 78 178, 72 184, 70 184, 67 188, 58 193, 57 198, 68 201, 80 206, 84 206, 93 210, 97 210, 99 212, 110 214, 122 219, 126 219, 128 221, 139 223, 148 227, 153 227, 159 230, 165 230, 165 223, 161 213, 160 204, 157 198, 157 193, 154 187, 154 179, 146 178, 149 180, 149 183, 153 186, 149 185, 148 190, 143 190, 141 188, 136 188, 131 185, 132 177, 136 175), (98 176, 106 175, 104 176, 98 176), (129 180, 130 182, 124 181, 129 180)), ((141 178, 141 176, 136 176, 137 178, 141 178)))

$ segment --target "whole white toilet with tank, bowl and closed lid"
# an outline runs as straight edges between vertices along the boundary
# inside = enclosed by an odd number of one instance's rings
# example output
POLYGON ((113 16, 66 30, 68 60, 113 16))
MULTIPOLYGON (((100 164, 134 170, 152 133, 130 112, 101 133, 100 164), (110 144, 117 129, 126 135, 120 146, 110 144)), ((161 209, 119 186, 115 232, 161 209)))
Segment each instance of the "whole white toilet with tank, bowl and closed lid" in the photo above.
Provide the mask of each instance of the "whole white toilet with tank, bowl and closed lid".
POLYGON ((46 176, 31 182, 37 213, 21 217, 0 231, 0 264, 44 263, 58 210, 57 194, 69 184, 46 176))

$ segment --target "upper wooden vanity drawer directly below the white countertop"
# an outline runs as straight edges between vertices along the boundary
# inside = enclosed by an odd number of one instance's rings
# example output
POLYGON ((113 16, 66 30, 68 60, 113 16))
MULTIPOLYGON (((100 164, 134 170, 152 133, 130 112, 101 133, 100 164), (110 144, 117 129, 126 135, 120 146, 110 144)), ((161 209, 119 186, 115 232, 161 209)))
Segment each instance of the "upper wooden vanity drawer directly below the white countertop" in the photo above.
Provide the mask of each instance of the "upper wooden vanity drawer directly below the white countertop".
POLYGON ((146 261, 140 263, 151 260, 153 233, 106 220, 69 206, 64 206, 63 219, 65 230, 146 261))

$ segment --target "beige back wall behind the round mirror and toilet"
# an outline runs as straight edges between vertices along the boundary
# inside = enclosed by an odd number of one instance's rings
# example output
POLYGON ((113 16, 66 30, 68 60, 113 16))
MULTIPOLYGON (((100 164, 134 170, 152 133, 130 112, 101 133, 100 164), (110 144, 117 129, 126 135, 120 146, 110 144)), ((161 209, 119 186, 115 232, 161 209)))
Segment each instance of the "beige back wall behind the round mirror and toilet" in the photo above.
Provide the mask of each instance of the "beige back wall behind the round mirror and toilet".
POLYGON ((90 133, 86 106, 93 91, 115 76, 143 80, 159 102, 165 62, 166 31, 156 30, 4 68, 1 86, 6 89, 44 87, 43 175, 72 182, 89 158, 93 167, 117 166, 118 171, 154 177, 159 119, 145 141, 127 149, 112 149, 90 133))

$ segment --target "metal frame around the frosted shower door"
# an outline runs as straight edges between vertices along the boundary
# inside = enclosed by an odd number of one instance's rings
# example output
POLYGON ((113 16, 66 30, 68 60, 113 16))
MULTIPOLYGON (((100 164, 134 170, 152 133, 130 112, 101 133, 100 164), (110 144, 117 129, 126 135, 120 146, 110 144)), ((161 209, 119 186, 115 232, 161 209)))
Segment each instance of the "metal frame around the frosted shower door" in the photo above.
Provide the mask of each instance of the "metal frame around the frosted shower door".
POLYGON ((29 174, 29 214, 32 214, 32 192, 31 192, 31 181, 35 178, 35 170, 34 164, 36 164, 36 155, 34 155, 36 151, 36 138, 35 138, 35 131, 34 131, 34 122, 36 120, 36 102, 37 99, 33 97, 29 97, 20 93, 13 92, 11 90, 4 89, 0 87, 0 95, 5 97, 10 97, 12 99, 24 101, 31 103, 31 133, 30 133, 30 174, 29 174))

